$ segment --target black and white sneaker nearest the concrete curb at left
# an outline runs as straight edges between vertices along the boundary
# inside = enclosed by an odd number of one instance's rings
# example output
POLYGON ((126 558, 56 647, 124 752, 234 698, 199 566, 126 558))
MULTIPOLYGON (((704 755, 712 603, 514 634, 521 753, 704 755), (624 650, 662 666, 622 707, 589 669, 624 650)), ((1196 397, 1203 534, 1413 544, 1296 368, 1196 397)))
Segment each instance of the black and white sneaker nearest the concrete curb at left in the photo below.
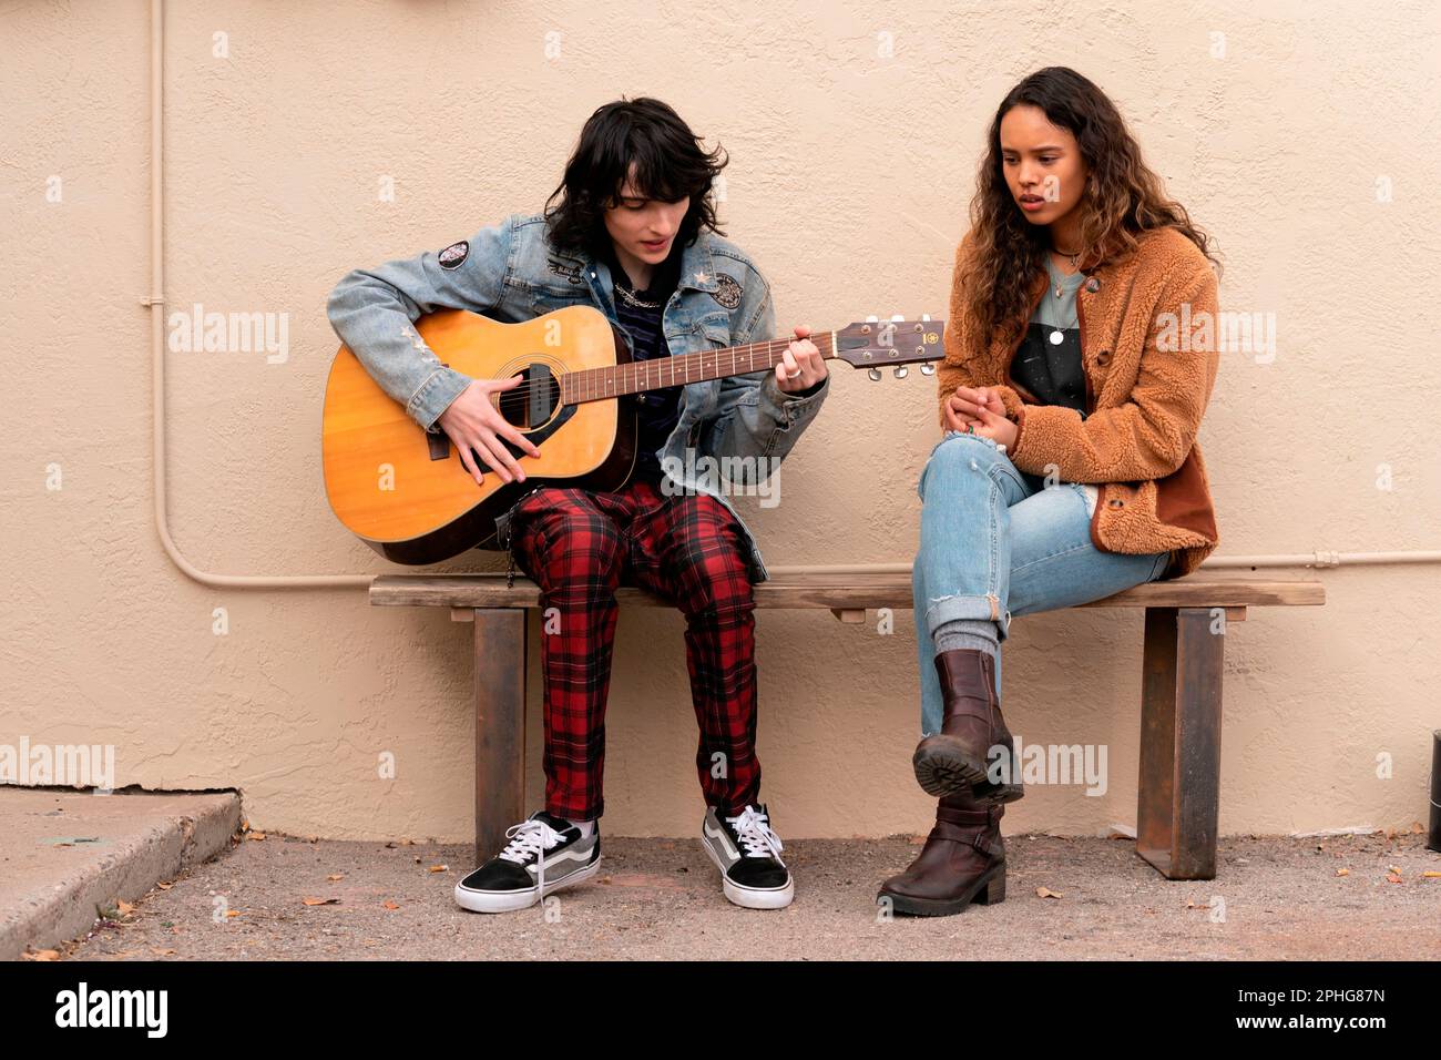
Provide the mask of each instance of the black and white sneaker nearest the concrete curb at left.
POLYGON ((588 838, 569 821, 540 811, 506 829, 506 849, 455 884, 455 901, 474 913, 527 909, 546 894, 584 883, 601 868, 601 825, 588 838))

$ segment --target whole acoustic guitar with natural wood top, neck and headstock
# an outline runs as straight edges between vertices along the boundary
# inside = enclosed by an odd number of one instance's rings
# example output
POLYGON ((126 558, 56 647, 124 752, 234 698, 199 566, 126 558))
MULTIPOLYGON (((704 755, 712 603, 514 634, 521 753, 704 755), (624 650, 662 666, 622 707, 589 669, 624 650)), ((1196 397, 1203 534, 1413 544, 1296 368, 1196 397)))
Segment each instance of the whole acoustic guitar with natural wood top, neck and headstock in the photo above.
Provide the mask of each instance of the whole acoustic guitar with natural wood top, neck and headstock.
MULTIPOLYGON (((810 336, 821 356, 852 368, 906 365, 944 356, 941 320, 869 320, 810 336)), ((568 306, 504 324, 467 310, 428 313, 415 330, 441 362, 473 379, 523 378, 491 401, 540 450, 523 457, 526 480, 501 482, 476 453, 476 479, 442 431, 425 431, 342 346, 326 382, 321 449, 326 498, 342 524, 380 555, 428 564, 470 548, 499 548, 496 516, 536 486, 620 489, 635 467, 631 395, 702 379, 774 371, 791 339, 630 361, 604 313, 568 306)), ((513 456, 522 450, 504 441, 513 456)), ((474 450, 471 450, 474 453, 474 450)))

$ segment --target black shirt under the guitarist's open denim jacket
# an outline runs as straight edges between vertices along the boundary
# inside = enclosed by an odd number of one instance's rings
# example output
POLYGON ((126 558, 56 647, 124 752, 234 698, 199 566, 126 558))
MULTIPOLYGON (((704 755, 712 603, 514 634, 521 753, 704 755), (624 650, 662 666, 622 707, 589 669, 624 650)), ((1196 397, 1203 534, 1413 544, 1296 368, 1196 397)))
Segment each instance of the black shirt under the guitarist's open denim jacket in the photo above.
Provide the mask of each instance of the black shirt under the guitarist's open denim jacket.
MULTIPOLYGON (((666 332, 661 314, 666 303, 676 291, 680 281, 680 241, 672 244, 670 255, 656 267, 651 274, 650 287, 635 290, 630 277, 615 258, 615 248, 608 244, 605 248, 605 264, 611 270, 611 280, 615 287, 615 316, 621 327, 631 337, 631 350, 635 361, 650 361, 653 358, 669 358, 670 345, 666 342, 666 332)), ((659 391, 644 391, 635 395, 637 401, 637 449, 635 477, 660 482, 660 459, 656 456, 666 444, 666 438, 680 423, 680 391, 683 387, 667 387, 659 391)))

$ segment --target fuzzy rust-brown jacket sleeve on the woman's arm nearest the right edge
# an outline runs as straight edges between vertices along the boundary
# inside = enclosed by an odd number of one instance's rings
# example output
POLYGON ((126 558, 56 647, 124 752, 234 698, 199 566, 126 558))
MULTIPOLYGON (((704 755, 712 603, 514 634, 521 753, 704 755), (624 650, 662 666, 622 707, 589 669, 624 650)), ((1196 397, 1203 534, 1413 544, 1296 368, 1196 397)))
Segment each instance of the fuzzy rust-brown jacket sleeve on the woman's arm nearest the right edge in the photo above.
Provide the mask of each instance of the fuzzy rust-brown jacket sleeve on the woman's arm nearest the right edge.
POLYGON ((1216 381, 1215 322, 1216 275, 1197 255, 1161 286, 1130 398, 1085 420, 1063 405, 1025 405, 1012 461, 1032 474, 1053 466, 1062 480, 1092 483, 1163 479, 1179 469, 1216 381), (1163 317, 1174 320, 1187 303, 1192 319, 1210 320, 1210 337, 1183 335, 1179 343, 1164 343, 1182 349, 1160 348, 1163 335, 1174 335, 1174 324, 1167 329, 1163 317))

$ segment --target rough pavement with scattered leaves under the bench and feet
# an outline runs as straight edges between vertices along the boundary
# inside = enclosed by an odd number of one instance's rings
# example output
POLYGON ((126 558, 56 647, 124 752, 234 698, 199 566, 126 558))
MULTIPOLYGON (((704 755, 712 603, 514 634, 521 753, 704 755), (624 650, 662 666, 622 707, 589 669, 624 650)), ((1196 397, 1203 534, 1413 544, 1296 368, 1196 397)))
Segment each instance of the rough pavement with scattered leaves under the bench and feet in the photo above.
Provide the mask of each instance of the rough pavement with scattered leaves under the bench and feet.
POLYGON ((1441 854, 1406 834, 1226 838, 1219 877, 1167 881, 1130 839, 1007 835, 1006 901, 878 917, 916 838, 787 842, 794 904, 731 906, 699 841, 604 839, 595 881, 483 916, 465 845, 236 838, 55 959, 1435 959, 1441 854), (1056 897, 1042 897, 1046 888, 1056 897), (307 904, 326 903, 326 904, 307 904))

